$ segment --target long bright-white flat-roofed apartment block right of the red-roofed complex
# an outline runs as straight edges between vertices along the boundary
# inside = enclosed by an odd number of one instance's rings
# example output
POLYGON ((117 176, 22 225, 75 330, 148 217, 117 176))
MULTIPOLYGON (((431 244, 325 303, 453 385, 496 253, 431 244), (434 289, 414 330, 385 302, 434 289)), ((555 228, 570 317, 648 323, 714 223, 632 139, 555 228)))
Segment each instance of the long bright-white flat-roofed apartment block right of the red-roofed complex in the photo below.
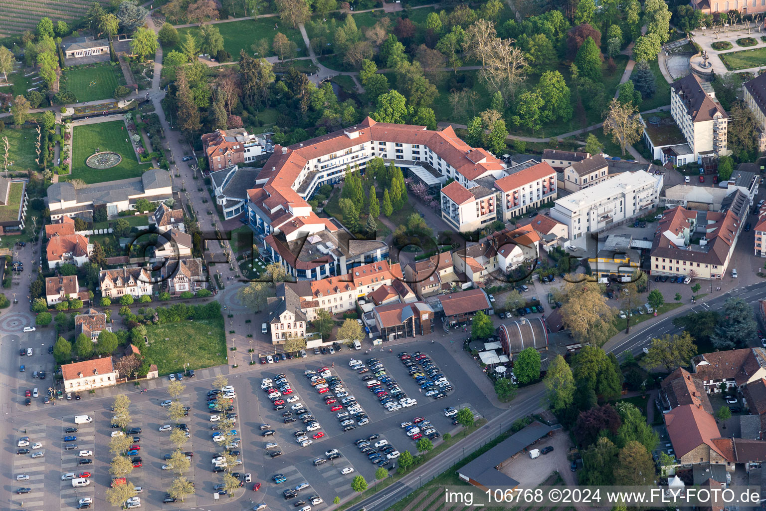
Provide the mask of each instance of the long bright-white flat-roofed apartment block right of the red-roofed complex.
POLYGON ((663 176, 640 170, 559 198, 551 217, 567 226, 571 240, 608 225, 647 214, 660 199, 663 176))

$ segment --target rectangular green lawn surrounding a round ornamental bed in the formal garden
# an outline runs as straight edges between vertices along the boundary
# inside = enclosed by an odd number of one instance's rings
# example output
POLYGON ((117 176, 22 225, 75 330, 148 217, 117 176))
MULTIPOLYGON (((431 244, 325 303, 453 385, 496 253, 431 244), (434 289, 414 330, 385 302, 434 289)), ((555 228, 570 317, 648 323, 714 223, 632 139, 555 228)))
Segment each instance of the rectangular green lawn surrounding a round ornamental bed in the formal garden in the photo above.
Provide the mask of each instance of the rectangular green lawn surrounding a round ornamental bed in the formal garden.
POLYGON ((70 179, 82 179, 87 183, 114 181, 116 179, 136 178, 145 170, 152 168, 152 163, 139 163, 133 146, 127 142, 128 132, 121 129, 125 123, 121 120, 107 123, 74 126, 72 154, 72 173, 70 179), (85 164, 88 156, 96 149, 118 152, 123 160, 111 169, 91 169, 85 164))

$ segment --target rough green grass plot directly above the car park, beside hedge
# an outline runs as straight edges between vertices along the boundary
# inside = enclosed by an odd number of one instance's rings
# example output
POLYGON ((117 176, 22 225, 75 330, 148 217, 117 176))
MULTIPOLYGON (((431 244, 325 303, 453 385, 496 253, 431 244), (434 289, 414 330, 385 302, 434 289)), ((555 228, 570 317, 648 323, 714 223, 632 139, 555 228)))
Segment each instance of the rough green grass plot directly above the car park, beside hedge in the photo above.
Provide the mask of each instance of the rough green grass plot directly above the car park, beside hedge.
POLYGON ((196 319, 180 323, 147 325, 149 346, 140 346, 144 356, 157 365, 159 375, 203 369, 225 364, 224 319, 196 319))

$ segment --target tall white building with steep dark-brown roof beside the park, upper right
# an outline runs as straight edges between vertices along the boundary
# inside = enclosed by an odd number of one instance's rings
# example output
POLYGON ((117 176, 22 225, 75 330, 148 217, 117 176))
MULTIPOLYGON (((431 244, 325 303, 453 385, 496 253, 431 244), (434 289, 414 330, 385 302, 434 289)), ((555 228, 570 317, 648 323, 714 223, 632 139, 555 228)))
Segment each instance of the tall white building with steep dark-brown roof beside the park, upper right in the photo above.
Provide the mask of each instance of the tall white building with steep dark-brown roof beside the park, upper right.
POLYGON ((692 150, 693 161, 728 154, 728 114, 708 82, 691 73, 670 84, 670 113, 692 150))

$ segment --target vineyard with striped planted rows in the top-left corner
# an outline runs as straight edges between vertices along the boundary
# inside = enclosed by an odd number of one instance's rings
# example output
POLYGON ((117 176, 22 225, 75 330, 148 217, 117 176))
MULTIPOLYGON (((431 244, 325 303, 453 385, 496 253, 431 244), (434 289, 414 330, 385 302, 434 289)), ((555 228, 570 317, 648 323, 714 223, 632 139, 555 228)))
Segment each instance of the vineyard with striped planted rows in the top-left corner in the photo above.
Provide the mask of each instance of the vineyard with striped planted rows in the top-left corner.
MULTIPOLYGON (((106 0, 99 0, 106 4, 106 0)), ((93 5, 93 0, 4 0, 0 7, 0 38, 34 31, 40 18, 77 21, 93 5)))

